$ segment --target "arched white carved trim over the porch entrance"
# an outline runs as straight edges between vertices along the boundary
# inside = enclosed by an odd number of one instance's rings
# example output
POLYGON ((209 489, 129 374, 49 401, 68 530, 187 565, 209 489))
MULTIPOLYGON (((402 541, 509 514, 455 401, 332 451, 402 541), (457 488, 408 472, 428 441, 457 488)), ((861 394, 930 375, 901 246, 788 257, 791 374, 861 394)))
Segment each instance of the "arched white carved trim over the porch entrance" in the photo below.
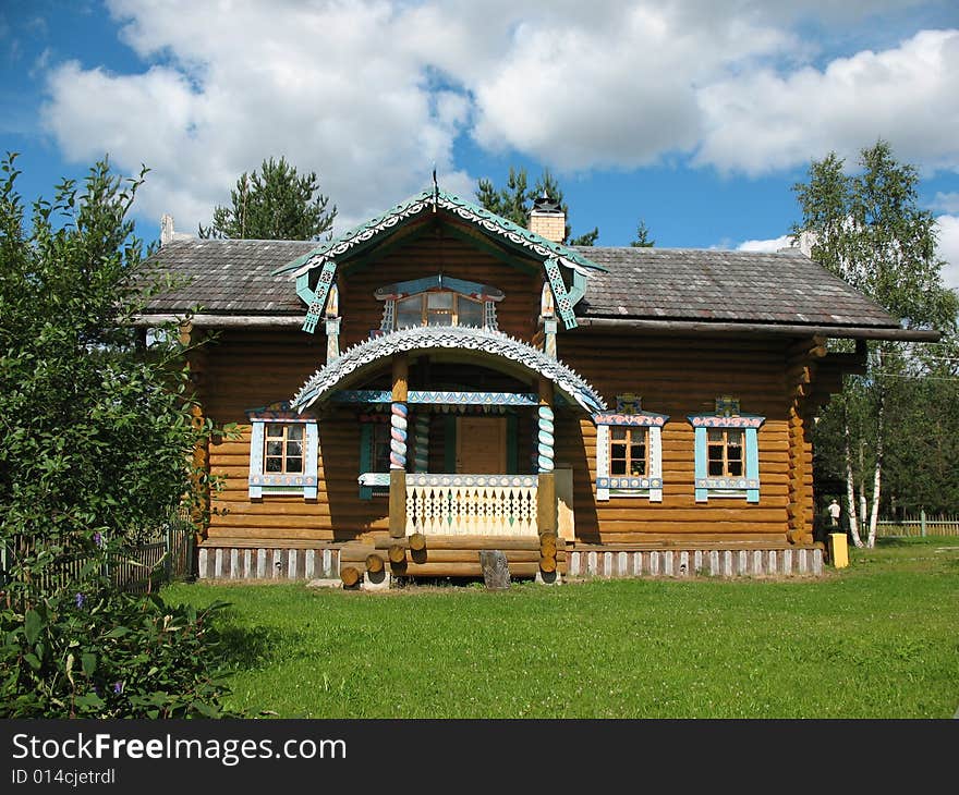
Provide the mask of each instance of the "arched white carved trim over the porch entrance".
POLYGON ((325 399, 343 378, 378 359, 397 353, 430 348, 477 351, 507 358, 548 378, 570 397, 570 402, 574 401, 590 415, 606 409, 599 393, 561 362, 502 331, 457 326, 417 326, 357 343, 338 359, 318 369, 293 397, 291 406, 300 412, 305 411, 325 399))

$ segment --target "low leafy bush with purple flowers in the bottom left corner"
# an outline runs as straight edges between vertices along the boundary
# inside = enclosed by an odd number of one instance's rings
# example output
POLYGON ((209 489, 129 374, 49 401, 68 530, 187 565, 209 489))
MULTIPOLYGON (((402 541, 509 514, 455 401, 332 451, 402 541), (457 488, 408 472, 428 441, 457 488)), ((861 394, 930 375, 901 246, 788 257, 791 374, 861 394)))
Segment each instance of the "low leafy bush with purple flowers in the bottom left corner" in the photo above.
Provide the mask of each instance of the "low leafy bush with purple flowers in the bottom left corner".
POLYGON ((219 718, 222 607, 106 590, 4 609, 0 718, 219 718))

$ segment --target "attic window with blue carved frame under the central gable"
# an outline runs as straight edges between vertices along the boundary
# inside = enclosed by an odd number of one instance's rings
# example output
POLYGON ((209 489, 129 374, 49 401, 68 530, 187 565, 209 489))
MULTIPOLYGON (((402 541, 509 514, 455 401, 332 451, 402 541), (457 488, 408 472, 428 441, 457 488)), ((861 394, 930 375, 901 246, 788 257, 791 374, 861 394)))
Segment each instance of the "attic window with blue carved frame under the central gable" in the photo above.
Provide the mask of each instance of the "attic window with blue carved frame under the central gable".
POLYGON ((375 296, 385 302, 380 332, 418 326, 496 328, 496 302, 502 292, 488 284, 446 276, 388 284, 375 296))

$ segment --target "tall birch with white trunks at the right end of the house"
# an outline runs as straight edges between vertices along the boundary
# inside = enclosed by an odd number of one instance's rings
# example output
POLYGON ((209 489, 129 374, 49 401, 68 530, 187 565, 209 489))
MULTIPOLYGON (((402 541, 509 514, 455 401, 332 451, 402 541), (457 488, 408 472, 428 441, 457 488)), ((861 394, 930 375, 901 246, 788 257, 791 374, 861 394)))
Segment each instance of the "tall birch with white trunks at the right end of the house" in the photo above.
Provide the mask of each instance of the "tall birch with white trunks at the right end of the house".
MULTIPOLYGON (((802 221, 793 237, 812 233, 812 258, 883 306, 905 328, 956 330, 957 296, 942 282, 944 262, 936 256, 935 219, 919 206, 919 173, 900 163, 888 143, 863 149, 857 173, 835 152, 813 161, 809 181, 793 186, 802 221)), ((865 491, 871 488, 866 547, 875 546, 882 504, 883 466, 889 439, 887 391, 890 381, 921 377, 922 356, 901 343, 870 343, 863 377, 849 377, 846 399, 827 411, 842 415, 847 500, 853 543, 862 546, 858 522, 866 522, 865 491), (860 414, 853 421, 852 411, 860 414), (858 428, 857 425, 860 427, 858 428), (864 451, 871 473, 857 466, 854 450, 864 451), (863 476, 860 515, 855 513, 855 470, 863 476)))

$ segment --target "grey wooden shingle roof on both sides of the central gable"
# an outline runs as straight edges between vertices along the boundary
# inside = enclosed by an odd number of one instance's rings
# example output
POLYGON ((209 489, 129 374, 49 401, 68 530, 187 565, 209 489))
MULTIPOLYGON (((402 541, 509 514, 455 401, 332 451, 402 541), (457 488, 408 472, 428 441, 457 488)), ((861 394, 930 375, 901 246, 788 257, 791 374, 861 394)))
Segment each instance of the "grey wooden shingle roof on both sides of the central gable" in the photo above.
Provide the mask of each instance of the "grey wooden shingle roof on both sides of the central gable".
MULTIPOLYGON (((306 307, 296 296, 293 279, 275 271, 316 245, 311 241, 168 243, 147 261, 190 284, 153 298, 147 311, 180 315, 201 306, 207 316, 302 319, 306 307)), ((882 307, 799 252, 602 246, 578 250, 607 269, 588 276, 585 296, 575 306, 585 326, 676 320, 899 329, 882 307)))

